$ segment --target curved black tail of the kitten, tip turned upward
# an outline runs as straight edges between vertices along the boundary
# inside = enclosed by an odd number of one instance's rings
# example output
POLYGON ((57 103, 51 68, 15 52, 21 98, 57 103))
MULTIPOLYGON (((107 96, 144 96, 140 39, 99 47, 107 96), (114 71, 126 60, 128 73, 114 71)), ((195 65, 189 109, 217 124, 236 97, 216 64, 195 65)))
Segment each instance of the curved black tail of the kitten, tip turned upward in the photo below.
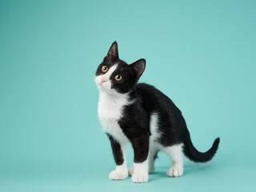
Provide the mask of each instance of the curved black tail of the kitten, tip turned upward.
POLYGON ((208 162, 210 161, 210 159, 214 157, 214 154, 218 150, 219 141, 220 139, 216 138, 210 150, 206 151, 205 153, 201 153, 194 148, 190 139, 190 134, 188 134, 184 139, 183 152, 186 155, 186 157, 190 158, 190 160, 193 162, 208 162))

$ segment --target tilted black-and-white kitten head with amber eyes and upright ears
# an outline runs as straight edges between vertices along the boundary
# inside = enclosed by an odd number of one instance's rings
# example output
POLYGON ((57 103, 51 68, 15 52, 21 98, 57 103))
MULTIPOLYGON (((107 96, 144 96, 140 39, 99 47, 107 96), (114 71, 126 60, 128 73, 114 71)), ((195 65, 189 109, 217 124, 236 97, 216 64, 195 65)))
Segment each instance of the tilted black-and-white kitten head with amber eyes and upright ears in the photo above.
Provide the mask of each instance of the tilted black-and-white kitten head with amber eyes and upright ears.
POLYGON ((126 94, 133 89, 146 67, 146 60, 139 59, 128 65, 118 58, 118 43, 113 42, 103 62, 96 71, 95 82, 99 90, 110 94, 126 94))

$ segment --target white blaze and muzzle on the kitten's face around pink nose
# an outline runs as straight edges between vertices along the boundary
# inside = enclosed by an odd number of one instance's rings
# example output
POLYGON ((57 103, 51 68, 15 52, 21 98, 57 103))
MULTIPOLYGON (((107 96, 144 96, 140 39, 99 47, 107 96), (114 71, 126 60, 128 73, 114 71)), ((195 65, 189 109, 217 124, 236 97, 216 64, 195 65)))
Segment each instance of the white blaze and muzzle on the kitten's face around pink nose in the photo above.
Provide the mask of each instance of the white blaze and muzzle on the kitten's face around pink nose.
POLYGON ((99 90, 111 90, 110 76, 111 74, 113 74, 114 70, 116 70, 117 66, 117 64, 111 66, 110 69, 106 72, 106 74, 98 75, 95 78, 95 82, 99 90), (102 82, 102 79, 104 79, 104 82, 102 82))

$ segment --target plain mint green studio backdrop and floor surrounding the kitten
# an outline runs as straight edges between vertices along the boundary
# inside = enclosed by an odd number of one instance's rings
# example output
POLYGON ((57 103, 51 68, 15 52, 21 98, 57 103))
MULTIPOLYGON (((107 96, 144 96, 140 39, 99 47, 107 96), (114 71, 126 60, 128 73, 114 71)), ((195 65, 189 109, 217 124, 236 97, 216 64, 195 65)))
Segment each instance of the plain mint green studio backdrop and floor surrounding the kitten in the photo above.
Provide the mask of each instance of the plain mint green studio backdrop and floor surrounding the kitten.
MULTIPOLYGON (((255 1, 0 2, 1 191, 254 191, 255 1), (166 177, 112 182, 110 143, 97 118, 95 70, 112 42, 120 58, 146 58, 141 82, 182 110, 194 146, 166 177)), ((132 165, 132 150, 128 150, 132 165)))

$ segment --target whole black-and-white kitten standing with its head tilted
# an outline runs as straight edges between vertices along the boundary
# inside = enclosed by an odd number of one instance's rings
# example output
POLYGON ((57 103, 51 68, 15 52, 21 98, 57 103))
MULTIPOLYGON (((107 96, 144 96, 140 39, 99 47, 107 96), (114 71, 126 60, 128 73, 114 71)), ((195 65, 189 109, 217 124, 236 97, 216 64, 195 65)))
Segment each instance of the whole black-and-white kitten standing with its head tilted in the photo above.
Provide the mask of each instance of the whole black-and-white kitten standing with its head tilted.
POLYGON ((128 65, 118 58, 114 42, 98 66, 95 82, 99 89, 98 118, 110 138, 116 168, 110 179, 121 180, 132 175, 133 182, 147 182, 154 172, 154 160, 162 150, 172 162, 167 175, 183 173, 182 153, 194 162, 207 162, 218 150, 219 138, 205 153, 198 152, 182 112, 161 91, 138 78, 145 70, 145 59, 128 65), (134 149, 134 166, 126 166, 126 144, 134 149))

